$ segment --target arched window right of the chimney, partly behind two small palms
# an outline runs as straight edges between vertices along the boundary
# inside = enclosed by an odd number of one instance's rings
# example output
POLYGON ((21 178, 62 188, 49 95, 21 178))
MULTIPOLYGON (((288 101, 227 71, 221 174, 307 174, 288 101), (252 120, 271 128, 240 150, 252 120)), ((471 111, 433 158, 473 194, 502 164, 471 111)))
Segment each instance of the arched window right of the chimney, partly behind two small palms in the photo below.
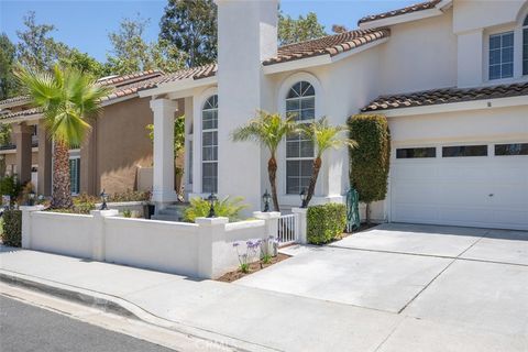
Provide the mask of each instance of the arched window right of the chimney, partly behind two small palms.
MULTIPOLYGON (((286 116, 296 121, 316 118, 316 91, 307 81, 296 82, 286 96, 286 116)), ((314 144, 300 134, 286 139, 286 193, 298 195, 308 188, 314 163, 314 144)))

